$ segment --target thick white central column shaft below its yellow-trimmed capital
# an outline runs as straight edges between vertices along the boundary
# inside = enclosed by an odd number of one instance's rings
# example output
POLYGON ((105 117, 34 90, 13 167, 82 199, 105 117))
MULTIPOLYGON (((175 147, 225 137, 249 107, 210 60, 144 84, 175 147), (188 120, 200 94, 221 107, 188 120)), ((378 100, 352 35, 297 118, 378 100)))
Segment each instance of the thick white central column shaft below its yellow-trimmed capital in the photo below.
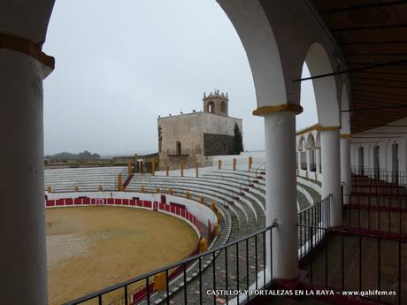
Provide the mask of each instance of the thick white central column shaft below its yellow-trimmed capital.
POLYGON ((297 278, 298 271, 296 116, 293 112, 265 116, 265 158, 266 225, 279 223, 279 227, 273 229, 273 277, 293 279, 297 278))

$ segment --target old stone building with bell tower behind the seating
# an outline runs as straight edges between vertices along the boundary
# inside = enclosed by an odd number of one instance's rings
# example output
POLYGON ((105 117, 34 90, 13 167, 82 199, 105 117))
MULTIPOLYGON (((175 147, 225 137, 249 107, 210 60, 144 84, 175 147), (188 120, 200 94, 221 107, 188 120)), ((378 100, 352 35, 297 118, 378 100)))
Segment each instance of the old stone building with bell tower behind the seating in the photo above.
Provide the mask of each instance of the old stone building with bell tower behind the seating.
POLYGON ((232 153, 234 125, 242 133, 242 119, 228 116, 228 96, 219 90, 204 94, 203 102, 204 111, 157 118, 161 169, 206 165, 208 156, 232 153))

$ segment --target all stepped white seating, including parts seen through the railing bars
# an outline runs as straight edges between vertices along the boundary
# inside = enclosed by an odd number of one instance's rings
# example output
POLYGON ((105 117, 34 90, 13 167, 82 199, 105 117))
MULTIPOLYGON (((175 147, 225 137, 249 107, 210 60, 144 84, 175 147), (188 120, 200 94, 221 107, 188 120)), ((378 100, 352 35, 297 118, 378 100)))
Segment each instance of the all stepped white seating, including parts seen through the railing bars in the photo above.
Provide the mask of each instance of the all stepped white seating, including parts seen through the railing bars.
MULTIPOLYGON (((116 189, 117 174, 126 171, 126 169, 123 167, 111 169, 107 173, 104 172, 105 169, 99 168, 100 172, 95 169, 65 170, 67 172, 64 170, 50 170, 55 172, 46 173, 45 187, 51 186, 56 192, 72 191, 74 186, 88 191, 97 191, 99 185, 102 185, 105 190, 109 190, 109 186, 111 190, 116 189)), ((210 205, 211 202, 214 202, 223 216, 221 219, 221 232, 215 246, 224 244, 227 240, 240 239, 265 226, 265 174, 262 172, 211 169, 200 172, 199 178, 172 176, 171 174, 170 177, 134 174, 134 177, 127 185, 126 191, 140 192, 142 188, 146 193, 156 193, 157 188, 159 188, 160 193, 168 193, 171 188, 175 195, 185 196, 186 192, 188 192, 193 200, 199 201, 200 196, 204 196, 205 204, 210 205)), ((316 202, 313 193, 315 190, 312 187, 300 184, 298 190, 299 210, 303 210, 316 202)), ((250 240, 250 247, 254 246, 254 241, 250 240)), ((262 238, 260 237, 257 242, 262 245, 262 238)), ((245 251, 243 246, 239 245, 241 254, 245 251)), ((259 251, 259 255, 262 257, 261 247, 259 251)), ((243 257, 243 259, 245 258, 243 257)), ((216 256, 216 266, 220 268, 219 270, 225 268, 225 260, 224 253, 216 256)), ((251 266, 255 264, 254 253, 250 252, 249 261, 251 266)), ((211 262, 212 258, 208 257, 208 260, 204 260, 204 266, 208 266, 211 262)), ((229 266, 229 270, 230 268, 229 266)), ((188 286, 195 287, 198 285, 195 280, 197 274, 195 269, 188 271, 188 286)), ((211 283, 210 271, 205 269, 202 277, 204 283, 211 283)), ((250 269, 247 275, 241 274, 240 280, 242 282, 240 285, 243 285, 246 277, 250 277, 250 282, 253 281, 256 277, 256 271, 250 269)), ((179 284, 175 282, 174 286, 179 284)), ((218 284, 219 286, 225 285, 223 278, 219 277, 218 284)), ((229 279, 229 285, 232 284, 237 285, 234 279, 229 279)), ((176 290, 178 289, 172 287, 174 292, 171 298, 172 301, 180 301, 178 299, 181 299, 179 294, 175 294, 176 290)), ((159 303, 164 299, 164 294, 157 293, 155 294, 154 303, 159 303)))

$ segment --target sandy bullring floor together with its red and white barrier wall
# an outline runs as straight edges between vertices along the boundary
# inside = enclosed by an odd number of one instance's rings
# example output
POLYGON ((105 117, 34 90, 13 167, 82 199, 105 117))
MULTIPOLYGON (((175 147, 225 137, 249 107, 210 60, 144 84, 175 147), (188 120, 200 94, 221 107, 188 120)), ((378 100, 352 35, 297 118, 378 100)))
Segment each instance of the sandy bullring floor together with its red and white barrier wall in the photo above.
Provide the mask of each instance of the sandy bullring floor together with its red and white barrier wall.
MULTIPOLYGON (((170 194, 48 192, 45 204, 50 304, 196 255, 218 226, 211 209, 170 194)), ((143 295, 140 283, 129 289, 143 295)), ((104 296, 118 300, 117 292, 104 296)))

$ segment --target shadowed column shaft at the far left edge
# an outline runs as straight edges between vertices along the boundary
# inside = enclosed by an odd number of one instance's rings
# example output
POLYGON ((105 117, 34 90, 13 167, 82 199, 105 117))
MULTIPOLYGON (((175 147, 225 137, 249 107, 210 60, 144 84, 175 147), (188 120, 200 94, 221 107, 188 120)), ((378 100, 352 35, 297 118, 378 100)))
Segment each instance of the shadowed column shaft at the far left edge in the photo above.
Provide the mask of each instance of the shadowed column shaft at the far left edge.
POLYGON ((0 49, 0 304, 48 304, 42 65, 0 49))

